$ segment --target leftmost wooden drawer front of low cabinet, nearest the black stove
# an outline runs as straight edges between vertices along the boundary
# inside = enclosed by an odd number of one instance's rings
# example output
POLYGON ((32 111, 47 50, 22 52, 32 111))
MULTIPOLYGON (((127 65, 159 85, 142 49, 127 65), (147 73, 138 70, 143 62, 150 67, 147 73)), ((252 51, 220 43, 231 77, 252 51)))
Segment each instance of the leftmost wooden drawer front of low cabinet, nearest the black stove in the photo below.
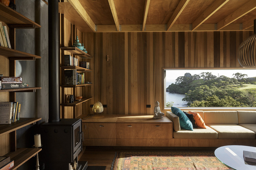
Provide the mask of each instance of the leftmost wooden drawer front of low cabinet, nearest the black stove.
POLYGON ((115 123, 88 123, 89 138, 116 138, 115 123))

